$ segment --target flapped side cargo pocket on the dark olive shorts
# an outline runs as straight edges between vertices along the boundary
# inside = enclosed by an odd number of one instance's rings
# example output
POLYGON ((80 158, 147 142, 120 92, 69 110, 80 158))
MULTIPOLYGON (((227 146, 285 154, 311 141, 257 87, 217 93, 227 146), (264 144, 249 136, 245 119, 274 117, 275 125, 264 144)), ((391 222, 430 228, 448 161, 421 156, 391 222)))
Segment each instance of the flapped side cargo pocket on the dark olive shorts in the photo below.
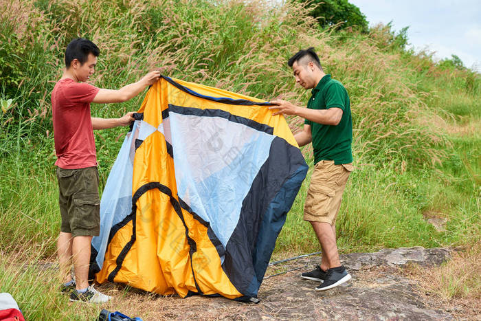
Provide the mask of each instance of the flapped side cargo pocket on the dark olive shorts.
POLYGON ((92 229, 100 225, 100 199, 96 193, 76 193, 74 205, 75 228, 92 229))

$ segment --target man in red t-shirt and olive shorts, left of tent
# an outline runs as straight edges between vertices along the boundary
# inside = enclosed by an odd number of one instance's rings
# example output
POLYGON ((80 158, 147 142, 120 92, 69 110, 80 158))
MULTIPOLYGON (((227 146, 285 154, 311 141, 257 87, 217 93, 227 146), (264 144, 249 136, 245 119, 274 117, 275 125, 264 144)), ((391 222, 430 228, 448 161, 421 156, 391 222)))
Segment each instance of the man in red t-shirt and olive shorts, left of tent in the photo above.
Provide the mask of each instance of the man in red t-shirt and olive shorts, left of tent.
POLYGON ((76 38, 65 50, 65 71, 52 91, 57 179, 62 225, 57 250, 61 290, 70 292, 70 300, 94 303, 111 297, 89 287, 90 244, 100 232, 100 199, 96 145, 93 129, 126 126, 133 112, 121 118, 93 118, 90 103, 124 102, 153 85, 160 71, 150 71, 141 80, 118 90, 99 89, 85 83, 95 71, 98 47, 85 38, 76 38), (75 280, 69 273, 74 263, 75 280))

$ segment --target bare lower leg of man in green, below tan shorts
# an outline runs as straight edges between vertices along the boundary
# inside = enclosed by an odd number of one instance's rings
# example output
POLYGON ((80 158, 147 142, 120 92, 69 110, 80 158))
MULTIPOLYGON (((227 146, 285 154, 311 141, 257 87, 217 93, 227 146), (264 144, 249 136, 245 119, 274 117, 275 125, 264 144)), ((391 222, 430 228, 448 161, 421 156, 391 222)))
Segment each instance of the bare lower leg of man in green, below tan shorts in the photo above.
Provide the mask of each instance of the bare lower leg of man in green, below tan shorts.
POLYGON ((321 269, 327 271, 341 266, 337 252, 335 227, 329 223, 311 221, 313 229, 322 247, 321 269))

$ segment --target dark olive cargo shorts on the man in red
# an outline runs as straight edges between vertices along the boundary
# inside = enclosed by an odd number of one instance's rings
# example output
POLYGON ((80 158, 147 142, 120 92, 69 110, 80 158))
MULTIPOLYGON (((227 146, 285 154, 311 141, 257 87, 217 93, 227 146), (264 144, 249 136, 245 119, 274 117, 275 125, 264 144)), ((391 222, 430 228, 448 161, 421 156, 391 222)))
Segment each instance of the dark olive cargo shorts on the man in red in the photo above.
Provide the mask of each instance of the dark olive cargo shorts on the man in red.
POLYGON ((100 199, 96 167, 63 169, 57 167, 60 231, 72 236, 98 236, 100 199))

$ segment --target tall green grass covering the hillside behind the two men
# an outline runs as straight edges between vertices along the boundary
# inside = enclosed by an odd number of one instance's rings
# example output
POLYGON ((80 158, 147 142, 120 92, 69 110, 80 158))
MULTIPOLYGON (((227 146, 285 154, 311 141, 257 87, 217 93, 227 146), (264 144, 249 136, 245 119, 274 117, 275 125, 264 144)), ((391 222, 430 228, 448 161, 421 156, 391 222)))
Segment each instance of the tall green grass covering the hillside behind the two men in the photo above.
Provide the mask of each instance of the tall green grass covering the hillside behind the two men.
MULTIPOLYGON (((266 100, 282 96, 298 104, 305 104, 309 92, 294 86, 286 60, 298 49, 313 45, 326 71, 350 93, 353 153, 360 170, 352 175, 353 188, 348 189, 344 203, 354 215, 371 215, 368 225, 378 217, 386 226, 396 226, 399 215, 419 217, 422 209, 413 208, 409 201, 413 191, 396 190, 403 184, 399 180, 428 177, 426 171, 436 173, 432 170, 441 168, 443 161, 449 163, 454 157, 453 142, 436 124, 458 121, 453 111, 457 115, 479 112, 474 99, 479 78, 471 71, 442 69, 429 54, 399 49, 389 27, 374 27, 368 35, 320 30, 299 3, 272 8, 262 1, 204 0, 196 1, 192 10, 189 1, 0 1, 8 9, 0 16, 1 95, 14 98, 14 107, 0 118, 2 172, 14 173, 2 178, 6 187, 1 204, 9 217, 26 214, 35 219, 56 212, 49 93, 60 76, 65 46, 76 36, 91 38, 101 49, 92 80, 99 87, 118 88, 149 69, 160 68, 170 76, 266 100), (28 203, 33 190, 43 192, 28 203), (385 199, 392 201, 386 204, 385 199), (386 211, 389 217, 383 217, 386 211)), ((93 115, 121 115, 137 109, 141 99, 142 95, 125 104, 93 105, 93 115)), ((289 122, 294 131, 302 124, 299 118, 289 122)), ((124 133, 124 129, 96 132, 102 181, 124 133)), ((304 153, 310 157, 311 148, 304 148, 304 153)), ((302 212, 304 193, 294 212, 302 212)), ((38 225, 32 222, 25 221, 28 232, 38 225)), ((433 244, 414 234, 403 236, 401 228, 390 232, 363 228, 363 224, 346 217, 339 221, 339 234, 369 240, 360 243, 368 247, 394 246, 401 240, 433 244)))

